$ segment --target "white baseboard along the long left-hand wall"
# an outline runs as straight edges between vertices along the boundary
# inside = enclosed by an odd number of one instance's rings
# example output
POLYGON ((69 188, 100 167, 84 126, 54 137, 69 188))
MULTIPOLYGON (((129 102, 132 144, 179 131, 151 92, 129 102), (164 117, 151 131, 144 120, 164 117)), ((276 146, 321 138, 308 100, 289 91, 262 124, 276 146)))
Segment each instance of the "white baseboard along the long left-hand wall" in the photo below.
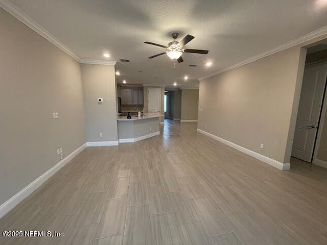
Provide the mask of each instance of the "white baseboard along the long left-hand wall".
POLYGON ((41 184, 43 184, 46 180, 48 180, 51 176, 53 176, 60 168, 66 165, 69 161, 71 161, 77 154, 83 151, 86 148, 86 143, 77 148, 74 152, 66 156, 60 162, 58 162, 55 166, 46 171, 43 175, 38 177, 36 180, 31 182, 24 189, 20 190, 13 197, 7 200, 0 206, 0 218, 8 213, 11 209, 13 209, 18 203, 24 200, 29 194, 31 194, 34 190, 36 190, 41 184))

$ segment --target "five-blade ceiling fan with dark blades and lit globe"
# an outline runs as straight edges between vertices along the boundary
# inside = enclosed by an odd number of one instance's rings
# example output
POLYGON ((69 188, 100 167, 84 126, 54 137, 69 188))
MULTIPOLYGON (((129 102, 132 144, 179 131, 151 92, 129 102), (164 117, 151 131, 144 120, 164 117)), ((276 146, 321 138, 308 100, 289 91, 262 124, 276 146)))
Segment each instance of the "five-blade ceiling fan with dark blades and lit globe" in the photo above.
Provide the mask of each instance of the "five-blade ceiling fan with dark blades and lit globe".
POLYGON ((183 46, 185 44, 189 43, 194 38, 194 36, 192 36, 192 35, 189 35, 189 34, 186 35, 179 42, 176 41, 176 38, 178 37, 177 32, 172 33, 172 37, 174 38, 174 41, 168 43, 168 46, 161 45, 161 44, 154 43, 154 42, 144 42, 144 43, 147 43, 147 44, 151 44, 151 45, 155 45, 155 46, 159 46, 159 47, 164 47, 164 48, 167 48, 167 50, 168 50, 166 52, 150 56, 149 59, 155 58, 155 57, 160 56, 160 55, 167 54, 169 58, 171 58, 172 60, 177 59, 178 63, 180 63, 180 62, 183 62, 183 58, 181 57, 181 55, 183 53, 196 53, 196 54, 206 55, 209 52, 207 50, 190 50, 189 48, 183 48, 183 46))

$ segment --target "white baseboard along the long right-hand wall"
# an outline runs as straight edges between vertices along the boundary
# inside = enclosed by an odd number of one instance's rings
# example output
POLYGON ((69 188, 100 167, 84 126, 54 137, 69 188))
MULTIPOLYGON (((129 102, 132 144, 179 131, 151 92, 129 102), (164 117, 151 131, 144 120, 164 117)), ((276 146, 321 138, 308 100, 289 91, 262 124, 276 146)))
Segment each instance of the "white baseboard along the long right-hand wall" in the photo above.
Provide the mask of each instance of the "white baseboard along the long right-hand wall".
POLYGON ((238 150, 240 152, 243 152, 243 153, 245 153, 247 155, 250 155, 250 156, 252 156, 252 157, 254 157, 256 159, 259 159, 259 160, 261 160, 263 162, 266 162, 266 163, 268 163, 268 164, 270 164, 270 165, 272 165, 272 166, 274 166, 276 168, 279 168, 279 169, 282 169, 282 170, 289 170, 291 168, 290 163, 278 162, 278 161, 276 161, 276 160, 274 160, 272 158, 266 157, 266 156, 261 155, 261 154, 259 154, 257 152, 253 152, 253 151, 251 151, 249 149, 244 148, 241 145, 235 144, 235 143, 230 142, 230 141, 228 141, 226 139, 223 139, 223 138, 220 138, 220 137, 218 137, 216 135, 213 135, 211 133, 205 132, 205 131, 203 131, 201 129, 197 129, 197 131, 202 133, 202 134, 205 134, 205 135, 207 135, 207 136, 209 136, 209 137, 211 137, 211 138, 213 138, 215 140, 218 140, 218 141, 220 141, 220 142, 222 142, 224 144, 227 144, 228 146, 230 146, 230 147, 232 147, 232 148, 234 148, 234 149, 236 149, 236 150, 238 150))

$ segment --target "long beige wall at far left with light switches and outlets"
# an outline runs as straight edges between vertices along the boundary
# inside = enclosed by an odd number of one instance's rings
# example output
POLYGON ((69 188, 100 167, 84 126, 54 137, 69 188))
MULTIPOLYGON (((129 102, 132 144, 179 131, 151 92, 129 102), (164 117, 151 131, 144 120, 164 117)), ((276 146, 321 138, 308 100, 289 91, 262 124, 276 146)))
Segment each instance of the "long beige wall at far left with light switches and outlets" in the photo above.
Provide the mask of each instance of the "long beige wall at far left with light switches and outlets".
POLYGON ((84 144, 85 125, 80 64, 2 8, 0 33, 2 204, 84 144))

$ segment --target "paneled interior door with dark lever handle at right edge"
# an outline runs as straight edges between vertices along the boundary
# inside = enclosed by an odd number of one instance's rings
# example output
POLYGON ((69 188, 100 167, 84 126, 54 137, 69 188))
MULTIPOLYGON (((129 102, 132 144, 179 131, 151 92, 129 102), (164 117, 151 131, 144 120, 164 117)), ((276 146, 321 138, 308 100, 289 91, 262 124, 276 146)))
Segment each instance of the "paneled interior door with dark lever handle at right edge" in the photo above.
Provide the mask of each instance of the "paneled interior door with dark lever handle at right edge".
POLYGON ((292 156, 311 162, 327 75, 327 64, 305 68, 297 113, 292 156))

